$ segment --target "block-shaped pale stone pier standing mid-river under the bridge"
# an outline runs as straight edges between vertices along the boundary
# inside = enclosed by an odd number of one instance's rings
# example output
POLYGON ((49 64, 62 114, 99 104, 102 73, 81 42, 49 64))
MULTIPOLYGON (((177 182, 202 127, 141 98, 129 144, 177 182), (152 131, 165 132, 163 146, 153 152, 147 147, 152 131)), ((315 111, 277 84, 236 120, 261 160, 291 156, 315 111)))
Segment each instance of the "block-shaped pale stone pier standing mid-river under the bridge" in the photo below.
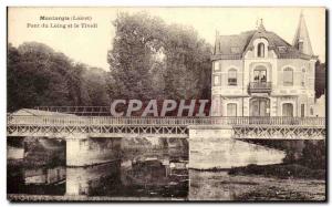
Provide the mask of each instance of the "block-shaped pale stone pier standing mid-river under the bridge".
POLYGON ((82 167, 118 159, 120 138, 66 137, 66 166, 82 167))

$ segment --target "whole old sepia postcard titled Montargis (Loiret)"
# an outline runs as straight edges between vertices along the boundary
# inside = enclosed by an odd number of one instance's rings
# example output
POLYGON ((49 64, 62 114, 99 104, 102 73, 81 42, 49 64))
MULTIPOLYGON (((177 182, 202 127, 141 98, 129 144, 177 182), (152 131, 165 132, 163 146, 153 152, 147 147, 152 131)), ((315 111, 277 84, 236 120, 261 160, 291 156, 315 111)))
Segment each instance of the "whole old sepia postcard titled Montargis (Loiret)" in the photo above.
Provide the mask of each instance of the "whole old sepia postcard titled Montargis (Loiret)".
POLYGON ((325 201, 324 8, 9 7, 11 201, 325 201))

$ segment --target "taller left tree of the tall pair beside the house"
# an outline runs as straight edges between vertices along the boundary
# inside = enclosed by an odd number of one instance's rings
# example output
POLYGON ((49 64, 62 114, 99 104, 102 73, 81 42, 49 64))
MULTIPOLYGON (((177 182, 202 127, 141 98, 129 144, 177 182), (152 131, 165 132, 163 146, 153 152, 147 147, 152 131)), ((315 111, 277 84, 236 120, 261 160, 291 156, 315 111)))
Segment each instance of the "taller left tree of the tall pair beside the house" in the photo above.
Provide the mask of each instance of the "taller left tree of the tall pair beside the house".
POLYGON ((160 20, 146 13, 121 13, 113 23, 116 34, 107 60, 116 84, 114 99, 153 99, 152 56, 158 50, 155 34, 160 20))

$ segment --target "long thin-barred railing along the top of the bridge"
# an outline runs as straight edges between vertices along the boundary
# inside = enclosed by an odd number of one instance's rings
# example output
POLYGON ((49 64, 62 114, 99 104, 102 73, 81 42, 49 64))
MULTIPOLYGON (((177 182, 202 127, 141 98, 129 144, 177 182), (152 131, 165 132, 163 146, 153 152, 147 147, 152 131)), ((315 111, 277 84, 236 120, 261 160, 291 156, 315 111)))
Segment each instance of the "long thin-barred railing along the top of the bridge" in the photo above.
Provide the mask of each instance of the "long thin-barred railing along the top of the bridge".
POLYGON ((8 125, 31 126, 89 126, 89 125, 300 125, 325 126, 324 117, 112 117, 75 115, 11 115, 8 125))

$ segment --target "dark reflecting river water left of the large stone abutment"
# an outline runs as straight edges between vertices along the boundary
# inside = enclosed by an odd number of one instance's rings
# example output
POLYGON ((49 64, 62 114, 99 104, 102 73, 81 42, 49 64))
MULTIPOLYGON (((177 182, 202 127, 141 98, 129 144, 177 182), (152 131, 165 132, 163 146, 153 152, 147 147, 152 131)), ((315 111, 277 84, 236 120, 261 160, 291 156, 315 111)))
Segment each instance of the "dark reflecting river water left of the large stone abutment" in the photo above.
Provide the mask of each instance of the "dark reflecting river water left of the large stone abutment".
POLYGON ((8 193, 186 198, 187 153, 174 144, 136 153, 124 149, 122 159, 89 167, 9 166, 8 193))

